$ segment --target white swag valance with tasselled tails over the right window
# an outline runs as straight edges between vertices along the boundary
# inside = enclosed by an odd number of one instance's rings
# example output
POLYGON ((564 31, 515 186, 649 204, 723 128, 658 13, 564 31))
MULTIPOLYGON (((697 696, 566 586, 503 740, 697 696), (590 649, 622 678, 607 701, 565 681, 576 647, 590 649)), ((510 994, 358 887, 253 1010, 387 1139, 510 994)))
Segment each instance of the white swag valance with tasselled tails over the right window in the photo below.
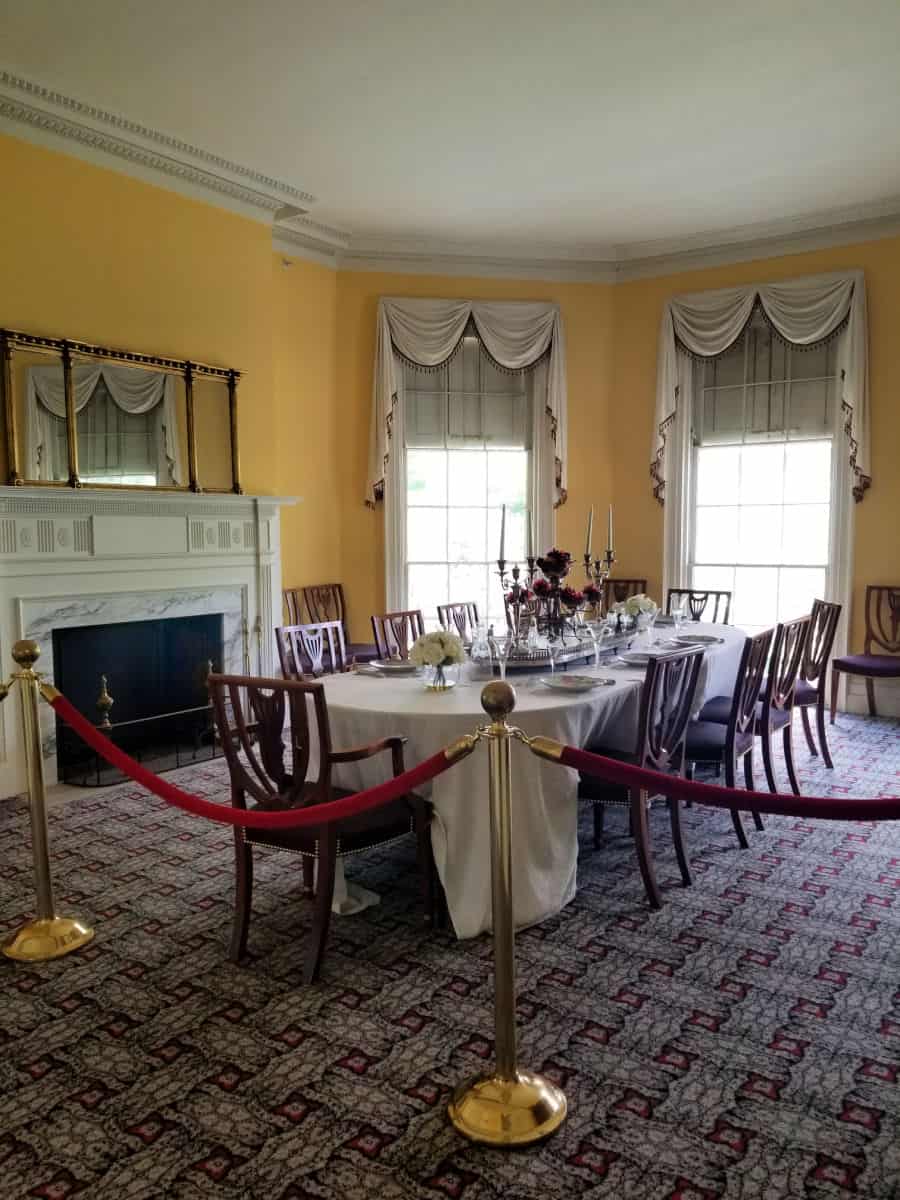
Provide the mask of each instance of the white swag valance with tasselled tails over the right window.
POLYGON ((787 342, 812 346, 841 330, 840 424, 857 500, 871 484, 869 458, 869 354, 865 278, 862 271, 817 275, 782 283, 750 284, 674 296, 662 310, 656 366, 656 420, 650 457, 653 492, 660 503, 679 474, 689 445, 691 404, 689 355, 714 358, 740 337, 756 305, 787 342), (680 416, 680 421, 677 418, 680 416), (667 448, 667 440, 674 446, 667 448))

